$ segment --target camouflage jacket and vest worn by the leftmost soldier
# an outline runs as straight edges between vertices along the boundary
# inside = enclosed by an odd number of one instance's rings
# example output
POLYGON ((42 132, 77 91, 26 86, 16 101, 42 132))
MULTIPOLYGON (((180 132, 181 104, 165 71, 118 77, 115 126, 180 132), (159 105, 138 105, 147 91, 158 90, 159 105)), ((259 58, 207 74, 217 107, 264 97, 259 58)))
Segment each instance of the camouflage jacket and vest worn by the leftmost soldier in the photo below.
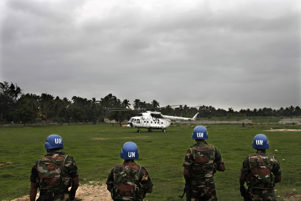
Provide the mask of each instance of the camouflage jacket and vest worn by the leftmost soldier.
POLYGON ((77 166, 73 158, 67 156, 65 152, 55 151, 46 153, 45 157, 35 162, 31 170, 30 181, 36 183, 41 192, 53 193, 67 189, 71 184, 71 178, 78 175, 77 166), (55 160, 57 165, 63 167, 65 173, 46 156, 55 160))

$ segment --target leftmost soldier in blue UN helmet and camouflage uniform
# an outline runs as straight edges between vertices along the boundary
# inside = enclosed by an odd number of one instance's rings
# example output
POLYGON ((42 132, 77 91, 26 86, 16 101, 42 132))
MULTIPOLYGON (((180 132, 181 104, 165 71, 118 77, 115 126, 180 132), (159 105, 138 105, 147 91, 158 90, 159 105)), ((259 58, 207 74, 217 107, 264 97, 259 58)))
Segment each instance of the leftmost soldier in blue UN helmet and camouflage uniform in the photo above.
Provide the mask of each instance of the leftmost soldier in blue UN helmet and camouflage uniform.
POLYGON ((36 161, 31 170, 30 201, 35 201, 38 188, 39 201, 73 201, 79 186, 75 161, 60 151, 64 144, 59 135, 48 136, 45 149, 47 153, 36 161))

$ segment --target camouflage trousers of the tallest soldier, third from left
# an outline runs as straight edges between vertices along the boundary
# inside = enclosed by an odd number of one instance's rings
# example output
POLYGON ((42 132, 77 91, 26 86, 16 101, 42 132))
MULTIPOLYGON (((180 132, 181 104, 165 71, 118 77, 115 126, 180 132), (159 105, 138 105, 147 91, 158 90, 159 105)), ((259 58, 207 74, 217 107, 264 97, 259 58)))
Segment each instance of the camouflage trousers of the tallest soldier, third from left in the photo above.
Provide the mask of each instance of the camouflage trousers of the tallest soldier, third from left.
POLYGON ((191 201, 216 201, 216 190, 213 177, 191 181, 191 201))

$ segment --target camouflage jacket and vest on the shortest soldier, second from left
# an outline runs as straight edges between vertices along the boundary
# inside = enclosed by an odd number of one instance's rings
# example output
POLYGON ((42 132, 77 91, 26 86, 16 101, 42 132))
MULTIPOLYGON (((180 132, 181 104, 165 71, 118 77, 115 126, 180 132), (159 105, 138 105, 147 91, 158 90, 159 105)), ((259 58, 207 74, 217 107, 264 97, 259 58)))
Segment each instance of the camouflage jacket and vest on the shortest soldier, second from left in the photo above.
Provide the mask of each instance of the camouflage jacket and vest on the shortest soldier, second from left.
MULTIPOLYGON (((140 200, 139 198, 143 197, 145 194, 143 193, 145 190, 149 190, 153 187, 153 183, 151 182, 151 178, 149 177, 146 169, 137 165, 135 162, 127 162, 123 163, 129 174, 136 180, 139 181, 139 185, 135 184, 128 174, 123 170, 121 165, 116 165, 110 171, 106 184, 113 187, 113 192, 115 194, 114 200, 140 200), (137 172, 139 172, 139 178, 137 172), (139 192, 137 190, 140 188, 139 192), (143 195, 144 194, 144 195, 143 195)), ((138 183, 138 182, 137 182, 138 183)), ((142 200, 142 199, 141 199, 142 200)))

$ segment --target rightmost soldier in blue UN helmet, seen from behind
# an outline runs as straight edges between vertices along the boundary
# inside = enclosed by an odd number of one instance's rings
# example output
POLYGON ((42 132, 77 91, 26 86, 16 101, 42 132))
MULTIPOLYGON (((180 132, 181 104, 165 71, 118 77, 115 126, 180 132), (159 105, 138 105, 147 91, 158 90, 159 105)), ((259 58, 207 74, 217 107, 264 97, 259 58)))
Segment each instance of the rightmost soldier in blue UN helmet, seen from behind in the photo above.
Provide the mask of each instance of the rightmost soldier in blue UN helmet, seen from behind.
POLYGON ((257 150, 256 154, 248 156, 240 170, 240 194, 244 197, 247 191, 244 187, 246 181, 251 200, 276 201, 274 186, 281 181, 280 164, 274 156, 266 153, 265 149, 270 145, 265 135, 256 135, 252 147, 257 150))

